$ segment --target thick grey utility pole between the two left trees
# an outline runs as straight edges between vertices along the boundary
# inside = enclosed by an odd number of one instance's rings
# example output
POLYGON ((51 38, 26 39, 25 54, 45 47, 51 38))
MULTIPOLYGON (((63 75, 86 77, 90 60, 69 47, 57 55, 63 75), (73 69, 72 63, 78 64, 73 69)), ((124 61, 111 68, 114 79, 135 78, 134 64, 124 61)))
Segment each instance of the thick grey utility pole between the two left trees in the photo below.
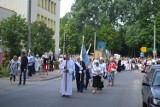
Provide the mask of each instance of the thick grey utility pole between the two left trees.
POLYGON ((31 0, 28 0, 28 36, 27 36, 27 51, 31 51, 31 0))

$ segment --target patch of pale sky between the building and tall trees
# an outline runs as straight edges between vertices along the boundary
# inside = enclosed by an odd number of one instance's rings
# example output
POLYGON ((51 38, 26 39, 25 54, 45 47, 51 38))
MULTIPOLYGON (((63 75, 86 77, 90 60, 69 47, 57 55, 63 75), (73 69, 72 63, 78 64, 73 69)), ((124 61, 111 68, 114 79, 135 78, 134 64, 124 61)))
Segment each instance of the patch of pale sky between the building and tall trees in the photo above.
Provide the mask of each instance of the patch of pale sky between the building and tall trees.
POLYGON ((60 7, 60 17, 62 18, 65 13, 71 11, 71 6, 75 0, 61 0, 61 7, 60 7))

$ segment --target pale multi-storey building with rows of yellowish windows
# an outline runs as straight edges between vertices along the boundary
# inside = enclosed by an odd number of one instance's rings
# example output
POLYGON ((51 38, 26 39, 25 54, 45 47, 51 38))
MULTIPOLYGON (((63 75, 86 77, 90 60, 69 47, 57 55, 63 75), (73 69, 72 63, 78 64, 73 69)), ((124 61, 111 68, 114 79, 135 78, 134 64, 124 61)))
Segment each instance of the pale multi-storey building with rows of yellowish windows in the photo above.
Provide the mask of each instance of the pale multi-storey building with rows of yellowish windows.
MULTIPOLYGON (((2 0, 0 2, 0 6, 13 10, 26 19, 28 4, 28 0, 2 0)), ((31 0, 31 22, 34 21, 43 21, 47 27, 53 29, 55 54, 59 54, 60 0, 31 0)))

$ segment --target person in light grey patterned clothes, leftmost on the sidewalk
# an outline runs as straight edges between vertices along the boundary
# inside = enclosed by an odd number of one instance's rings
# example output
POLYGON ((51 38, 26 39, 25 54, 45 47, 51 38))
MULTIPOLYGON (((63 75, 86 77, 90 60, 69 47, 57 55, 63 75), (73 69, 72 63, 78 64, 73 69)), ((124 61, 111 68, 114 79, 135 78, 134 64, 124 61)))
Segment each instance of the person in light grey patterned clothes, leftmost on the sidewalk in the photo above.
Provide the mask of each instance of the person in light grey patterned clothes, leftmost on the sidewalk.
POLYGON ((9 64, 9 74, 10 74, 10 82, 12 84, 12 79, 15 83, 16 81, 16 74, 17 74, 17 71, 18 71, 18 61, 17 61, 17 56, 14 55, 13 56, 13 59, 10 61, 10 64, 9 64))

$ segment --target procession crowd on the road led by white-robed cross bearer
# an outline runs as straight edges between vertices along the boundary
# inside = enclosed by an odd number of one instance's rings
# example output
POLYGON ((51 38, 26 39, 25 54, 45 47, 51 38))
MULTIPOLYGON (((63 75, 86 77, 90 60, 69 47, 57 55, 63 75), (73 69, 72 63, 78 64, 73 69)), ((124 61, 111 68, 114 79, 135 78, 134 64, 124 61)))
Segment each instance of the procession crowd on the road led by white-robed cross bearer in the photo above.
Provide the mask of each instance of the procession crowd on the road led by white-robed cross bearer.
POLYGON ((60 93, 64 97, 72 96, 72 81, 76 79, 77 92, 87 90, 88 85, 93 87, 93 94, 100 92, 105 86, 114 86, 115 74, 121 71, 139 70, 145 71, 148 66, 160 64, 159 59, 151 58, 127 58, 111 57, 106 60, 103 57, 89 57, 89 65, 81 60, 80 56, 66 56, 59 59, 59 68, 62 74, 60 93), (67 65, 67 66, 66 66, 67 65), (67 78, 67 79, 66 79, 67 78))

